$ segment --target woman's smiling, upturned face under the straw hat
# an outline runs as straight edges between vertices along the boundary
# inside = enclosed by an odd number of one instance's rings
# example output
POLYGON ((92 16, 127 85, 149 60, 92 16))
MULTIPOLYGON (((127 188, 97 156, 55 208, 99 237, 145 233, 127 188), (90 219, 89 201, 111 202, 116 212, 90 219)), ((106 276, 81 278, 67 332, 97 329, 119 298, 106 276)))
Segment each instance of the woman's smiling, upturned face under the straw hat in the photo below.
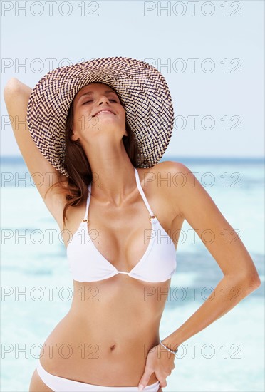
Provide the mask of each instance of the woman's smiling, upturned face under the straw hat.
POLYGON ((119 139, 128 135, 125 109, 113 88, 105 83, 90 83, 78 91, 73 100, 72 130, 72 140, 79 138, 81 145, 99 135, 119 139))

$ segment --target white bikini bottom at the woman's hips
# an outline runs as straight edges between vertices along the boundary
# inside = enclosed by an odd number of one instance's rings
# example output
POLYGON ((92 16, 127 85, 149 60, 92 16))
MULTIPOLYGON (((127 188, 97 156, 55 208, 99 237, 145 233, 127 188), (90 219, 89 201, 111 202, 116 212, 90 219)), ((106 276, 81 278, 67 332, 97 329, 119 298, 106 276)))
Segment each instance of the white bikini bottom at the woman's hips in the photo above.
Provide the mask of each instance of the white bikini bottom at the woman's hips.
MULTIPOLYGON (((42 366, 38 359, 37 364, 38 375, 41 377, 43 383, 51 388, 54 392, 123 392, 123 391, 138 391, 138 386, 100 386, 88 383, 80 383, 79 381, 69 380, 54 376, 48 373, 42 366)), ((146 386, 142 391, 157 392, 160 388, 160 383, 157 381, 154 384, 146 386)))

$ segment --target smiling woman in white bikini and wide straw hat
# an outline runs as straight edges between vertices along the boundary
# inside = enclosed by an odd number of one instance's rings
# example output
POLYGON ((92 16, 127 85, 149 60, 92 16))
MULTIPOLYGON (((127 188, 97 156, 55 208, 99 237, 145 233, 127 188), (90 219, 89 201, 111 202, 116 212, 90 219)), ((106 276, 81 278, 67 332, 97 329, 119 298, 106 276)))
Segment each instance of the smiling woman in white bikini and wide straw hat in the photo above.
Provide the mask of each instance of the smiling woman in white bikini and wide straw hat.
POLYGON ((38 191, 63 230, 73 277, 71 309, 44 342, 29 390, 162 391, 177 347, 238 303, 224 301, 222 287, 231 296, 239 287, 243 299, 260 285, 188 167, 158 163, 174 120, 165 78, 142 61, 100 58, 53 70, 33 91, 12 78, 4 98, 11 118, 28 111, 26 131, 20 123, 14 135, 29 172, 43 176, 38 191), (214 299, 161 341, 166 298, 157 292, 170 288, 184 220, 202 241, 211 230, 204 244, 224 277, 214 299))

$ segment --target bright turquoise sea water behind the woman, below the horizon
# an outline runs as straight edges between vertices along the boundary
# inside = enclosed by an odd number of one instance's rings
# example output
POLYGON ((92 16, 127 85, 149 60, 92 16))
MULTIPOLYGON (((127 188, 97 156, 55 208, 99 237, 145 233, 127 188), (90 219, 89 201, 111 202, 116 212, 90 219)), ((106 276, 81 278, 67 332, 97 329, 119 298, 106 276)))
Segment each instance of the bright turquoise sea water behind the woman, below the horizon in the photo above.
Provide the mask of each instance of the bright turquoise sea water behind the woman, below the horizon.
MULTIPOLYGON (((237 232, 261 287, 182 344, 163 391, 264 391, 264 161, 187 159, 237 232)), ((160 336, 179 328, 222 279, 185 221, 160 336)), ((1 158, 1 391, 28 391, 40 346, 71 306, 72 280, 57 224, 20 158, 1 158), (27 243, 28 242, 28 243, 27 243)))

